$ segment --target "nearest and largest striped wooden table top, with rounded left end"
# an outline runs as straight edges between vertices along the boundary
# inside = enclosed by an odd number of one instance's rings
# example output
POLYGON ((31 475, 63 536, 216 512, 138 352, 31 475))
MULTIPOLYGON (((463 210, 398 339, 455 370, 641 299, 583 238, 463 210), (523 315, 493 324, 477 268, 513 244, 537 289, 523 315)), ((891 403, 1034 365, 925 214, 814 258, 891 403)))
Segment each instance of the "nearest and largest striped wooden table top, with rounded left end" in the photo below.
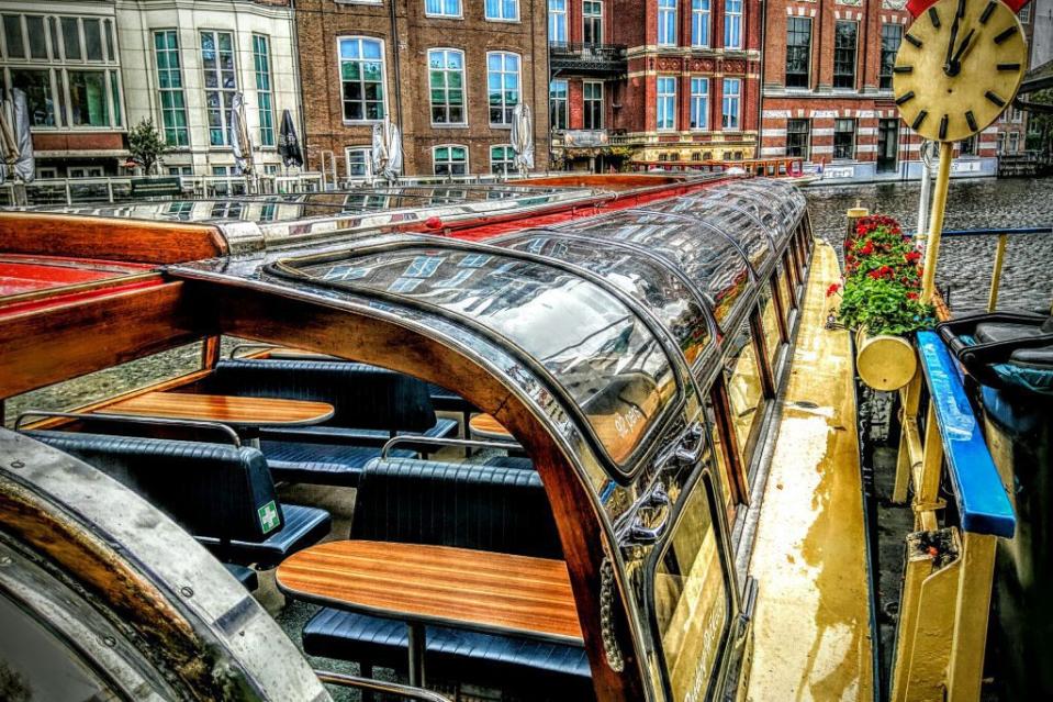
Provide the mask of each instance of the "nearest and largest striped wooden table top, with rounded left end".
POLYGON ((567 564, 392 542, 343 541, 287 558, 290 597, 425 624, 581 644, 567 564))

